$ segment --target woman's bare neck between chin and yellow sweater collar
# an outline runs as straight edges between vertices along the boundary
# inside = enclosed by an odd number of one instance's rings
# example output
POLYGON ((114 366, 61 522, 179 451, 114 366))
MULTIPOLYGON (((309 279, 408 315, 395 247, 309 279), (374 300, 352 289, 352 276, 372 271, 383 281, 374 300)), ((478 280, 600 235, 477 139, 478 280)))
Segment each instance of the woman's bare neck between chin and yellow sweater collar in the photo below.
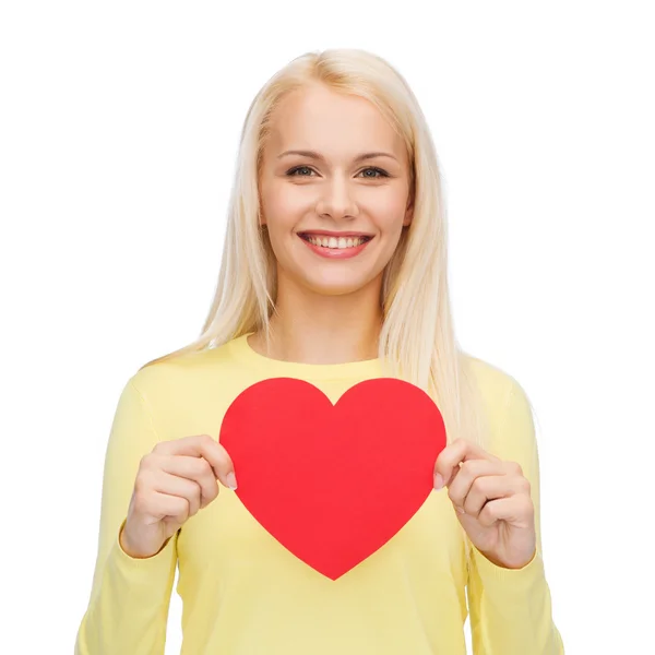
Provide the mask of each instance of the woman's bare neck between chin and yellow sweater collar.
MULTIPOLYGON (((282 283, 283 281, 281 281, 282 283)), ((270 347, 257 333, 250 345, 267 357, 303 364, 345 364, 378 357, 383 312, 381 279, 353 294, 324 296, 279 285, 271 318, 270 347)))

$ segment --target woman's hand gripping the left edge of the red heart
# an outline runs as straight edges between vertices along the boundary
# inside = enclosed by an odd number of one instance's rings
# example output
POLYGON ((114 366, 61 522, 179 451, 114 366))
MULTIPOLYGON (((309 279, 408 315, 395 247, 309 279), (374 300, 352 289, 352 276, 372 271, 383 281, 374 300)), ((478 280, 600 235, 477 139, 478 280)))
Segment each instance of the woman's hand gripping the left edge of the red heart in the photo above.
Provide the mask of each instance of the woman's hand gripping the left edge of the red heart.
POLYGON ((209 434, 157 443, 139 465, 119 536, 123 551, 133 558, 157 555, 188 519, 218 496, 217 480, 236 488, 234 475, 227 451, 209 434))

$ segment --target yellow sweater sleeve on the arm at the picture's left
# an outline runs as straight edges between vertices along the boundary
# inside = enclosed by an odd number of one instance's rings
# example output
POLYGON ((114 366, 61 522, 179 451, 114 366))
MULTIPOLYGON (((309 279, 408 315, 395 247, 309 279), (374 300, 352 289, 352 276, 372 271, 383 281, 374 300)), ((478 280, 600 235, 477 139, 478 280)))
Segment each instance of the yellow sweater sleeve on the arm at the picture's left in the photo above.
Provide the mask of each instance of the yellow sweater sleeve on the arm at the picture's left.
POLYGON ((119 541, 140 461, 158 441, 132 380, 121 392, 107 444, 97 559, 75 655, 164 653, 177 534, 157 555, 145 559, 128 556, 119 541))

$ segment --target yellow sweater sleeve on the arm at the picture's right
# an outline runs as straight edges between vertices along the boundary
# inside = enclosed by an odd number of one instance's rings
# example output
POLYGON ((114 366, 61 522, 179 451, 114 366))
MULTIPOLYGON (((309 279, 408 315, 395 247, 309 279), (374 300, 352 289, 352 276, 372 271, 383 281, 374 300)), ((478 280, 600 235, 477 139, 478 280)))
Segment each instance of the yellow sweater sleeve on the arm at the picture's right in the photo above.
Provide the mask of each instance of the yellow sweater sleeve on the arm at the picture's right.
POLYGON ((475 655, 563 655, 561 635, 551 614, 550 590, 541 552, 539 460, 532 408, 523 389, 511 380, 503 419, 489 449, 516 462, 531 483, 537 548, 522 569, 504 569, 471 548, 468 605, 475 655))

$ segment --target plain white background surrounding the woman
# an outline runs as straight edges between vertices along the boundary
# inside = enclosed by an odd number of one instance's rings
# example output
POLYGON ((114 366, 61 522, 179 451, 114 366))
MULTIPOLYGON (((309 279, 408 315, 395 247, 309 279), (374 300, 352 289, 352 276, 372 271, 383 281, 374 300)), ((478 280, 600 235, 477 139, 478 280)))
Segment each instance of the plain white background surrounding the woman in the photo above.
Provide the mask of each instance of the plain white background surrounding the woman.
MULTIPOLYGON (((460 343, 536 409, 567 653, 647 652, 650 4, 3 3, 0 652, 72 653, 118 394, 200 333, 252 97, 340 46, 395 66, 430 123, 460 343)), ((174 591, 167 653, 180 611, 174 591)))

